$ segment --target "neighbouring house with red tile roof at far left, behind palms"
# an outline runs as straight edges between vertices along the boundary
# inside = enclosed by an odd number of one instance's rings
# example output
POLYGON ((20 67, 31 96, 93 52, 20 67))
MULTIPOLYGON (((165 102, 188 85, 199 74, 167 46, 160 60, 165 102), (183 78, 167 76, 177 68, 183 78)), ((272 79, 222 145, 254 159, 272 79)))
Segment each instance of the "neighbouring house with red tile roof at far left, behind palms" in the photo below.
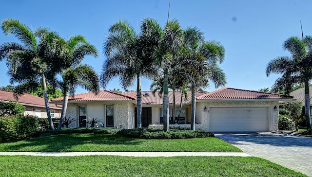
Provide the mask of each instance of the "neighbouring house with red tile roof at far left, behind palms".
MULTIPOLYGON (((17 101, 18 104, 24 106, 24 115, 34 115, 39 118, 47 118, 47 113, 45 110, 44 99, 38 96, 34 96, 28 93, 24 93, 15 98, 13 92, 7 92, 0 90, 0 102, 7 103, 9 101, 17 101)), ((50 111, 52 118, 59 118, 62 110, 62 106, 50 104, 50 111)))

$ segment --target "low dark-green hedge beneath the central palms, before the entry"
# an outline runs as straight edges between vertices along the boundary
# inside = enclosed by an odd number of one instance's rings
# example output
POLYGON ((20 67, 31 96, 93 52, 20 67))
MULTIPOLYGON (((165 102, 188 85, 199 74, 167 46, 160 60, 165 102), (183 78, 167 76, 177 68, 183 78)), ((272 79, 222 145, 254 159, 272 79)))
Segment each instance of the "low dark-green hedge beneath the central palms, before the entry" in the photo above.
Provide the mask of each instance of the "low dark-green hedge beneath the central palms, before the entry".
POLYGON ((213 133, 203 130, 171 129, 168 132, 156 129, 122 129, 118 134, 140 139, 186 139, 215 137, 213 133))

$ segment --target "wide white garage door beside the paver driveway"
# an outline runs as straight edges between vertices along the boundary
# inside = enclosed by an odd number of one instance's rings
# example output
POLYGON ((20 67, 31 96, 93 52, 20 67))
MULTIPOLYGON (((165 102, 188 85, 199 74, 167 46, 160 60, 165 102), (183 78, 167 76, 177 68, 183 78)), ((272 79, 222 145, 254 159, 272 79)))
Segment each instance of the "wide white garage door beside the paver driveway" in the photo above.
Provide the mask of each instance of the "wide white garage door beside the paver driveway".
POLYGON ((211 107, 210 130, 222 132, 265 132, 268 107, 211 107))

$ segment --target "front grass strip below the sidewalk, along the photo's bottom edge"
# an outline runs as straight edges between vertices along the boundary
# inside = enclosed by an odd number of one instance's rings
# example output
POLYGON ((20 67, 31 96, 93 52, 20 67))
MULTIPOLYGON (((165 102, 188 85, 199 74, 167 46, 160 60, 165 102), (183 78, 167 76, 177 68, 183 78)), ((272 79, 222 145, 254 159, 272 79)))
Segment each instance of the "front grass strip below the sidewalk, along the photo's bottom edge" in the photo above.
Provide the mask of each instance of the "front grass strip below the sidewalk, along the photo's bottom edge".
POLYGON ((1 177, 306 177, 255 157, 0 156, 1 177))

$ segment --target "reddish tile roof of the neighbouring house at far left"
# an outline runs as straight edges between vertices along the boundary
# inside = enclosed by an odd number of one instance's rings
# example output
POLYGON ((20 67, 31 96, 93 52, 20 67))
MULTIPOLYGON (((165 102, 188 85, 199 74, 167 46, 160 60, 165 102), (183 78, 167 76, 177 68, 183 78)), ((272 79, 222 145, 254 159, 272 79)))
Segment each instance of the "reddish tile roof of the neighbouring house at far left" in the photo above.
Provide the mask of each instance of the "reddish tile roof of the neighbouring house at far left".
MULTIPOLYGON (((44 99, 38 96, 34 96, 28 93, 24 93, 23 95, 20 95, 18 100, 15 99, 13 92, 7 92, 0 90, 0 100, 1 101, 18 101, 21 105, 24 104, 31 104, 31 105, 38 105, 40 107, 44 106, 44 99)), ((49 104, 50 108, 56 108, 61 109, 61 107, 55 105, 55 104, 49 104)))

